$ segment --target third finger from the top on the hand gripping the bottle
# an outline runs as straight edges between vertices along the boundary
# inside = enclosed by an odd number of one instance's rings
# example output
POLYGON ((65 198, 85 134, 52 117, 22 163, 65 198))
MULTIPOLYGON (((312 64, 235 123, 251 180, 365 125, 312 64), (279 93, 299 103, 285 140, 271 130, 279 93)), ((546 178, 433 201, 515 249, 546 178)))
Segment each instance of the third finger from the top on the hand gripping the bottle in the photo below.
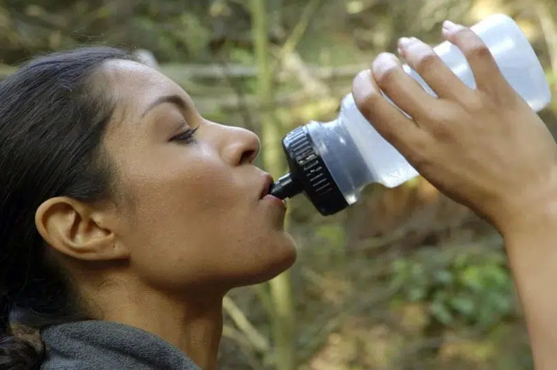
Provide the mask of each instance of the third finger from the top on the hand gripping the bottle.
POLYGON ((373 60, 371 71, 386 96, 414 119, 424 117, 437 102, 437 98, 408 76, 400 60, 393 54, 380 54, 373 60))

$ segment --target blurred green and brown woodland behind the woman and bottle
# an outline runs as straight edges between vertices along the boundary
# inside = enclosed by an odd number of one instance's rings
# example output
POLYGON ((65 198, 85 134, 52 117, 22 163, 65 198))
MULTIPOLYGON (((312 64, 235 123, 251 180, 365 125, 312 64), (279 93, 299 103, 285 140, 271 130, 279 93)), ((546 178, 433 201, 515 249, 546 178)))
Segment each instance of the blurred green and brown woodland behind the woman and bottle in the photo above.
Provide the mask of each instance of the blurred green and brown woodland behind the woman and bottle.
MULTIPOLYGON (((335 117, 353 76, 400 36, 435 45, 444 19, 512 16, 554 89, 554 0, 3 0, 0 78, 74 45, 133 49, 206 117, 254 130, 283 174, 280 139, 335 117)), ((557 102, 540 113, 555 132, 557 102)), ((220 369, 532 369, 501 238, 424 179, 370 186, 324 218, 302 196, 299 259, 226 297, 220 369)))

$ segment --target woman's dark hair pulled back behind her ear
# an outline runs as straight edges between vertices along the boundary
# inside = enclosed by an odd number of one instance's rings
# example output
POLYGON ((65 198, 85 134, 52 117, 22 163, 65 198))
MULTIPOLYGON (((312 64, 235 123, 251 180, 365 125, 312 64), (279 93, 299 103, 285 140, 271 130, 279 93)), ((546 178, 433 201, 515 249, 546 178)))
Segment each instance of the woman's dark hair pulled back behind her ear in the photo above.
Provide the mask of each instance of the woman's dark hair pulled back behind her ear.
POLYGON ((14 316, 39 329, 79 315, 67 277, 49 263, 34 213, 55 196, 109 196, 100 143, 114 104, 94 77, 114 59, 130 57, 109 47, 58 52, 0 82, 0 369, 39 369, 44 356, 13 335, 14 316))

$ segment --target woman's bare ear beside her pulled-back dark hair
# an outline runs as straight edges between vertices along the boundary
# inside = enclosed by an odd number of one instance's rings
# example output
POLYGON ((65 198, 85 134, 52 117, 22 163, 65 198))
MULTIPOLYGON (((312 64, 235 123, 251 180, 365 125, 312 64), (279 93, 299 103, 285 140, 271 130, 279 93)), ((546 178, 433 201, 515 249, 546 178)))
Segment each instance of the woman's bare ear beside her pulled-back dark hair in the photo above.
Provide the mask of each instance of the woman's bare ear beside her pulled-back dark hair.
POLYGON ((87 261, 127 259, 126 246, 111 230, 109 209, 68 197, 46 200, 35 213, 36 228, 43 239, 59 252, 87 261))

